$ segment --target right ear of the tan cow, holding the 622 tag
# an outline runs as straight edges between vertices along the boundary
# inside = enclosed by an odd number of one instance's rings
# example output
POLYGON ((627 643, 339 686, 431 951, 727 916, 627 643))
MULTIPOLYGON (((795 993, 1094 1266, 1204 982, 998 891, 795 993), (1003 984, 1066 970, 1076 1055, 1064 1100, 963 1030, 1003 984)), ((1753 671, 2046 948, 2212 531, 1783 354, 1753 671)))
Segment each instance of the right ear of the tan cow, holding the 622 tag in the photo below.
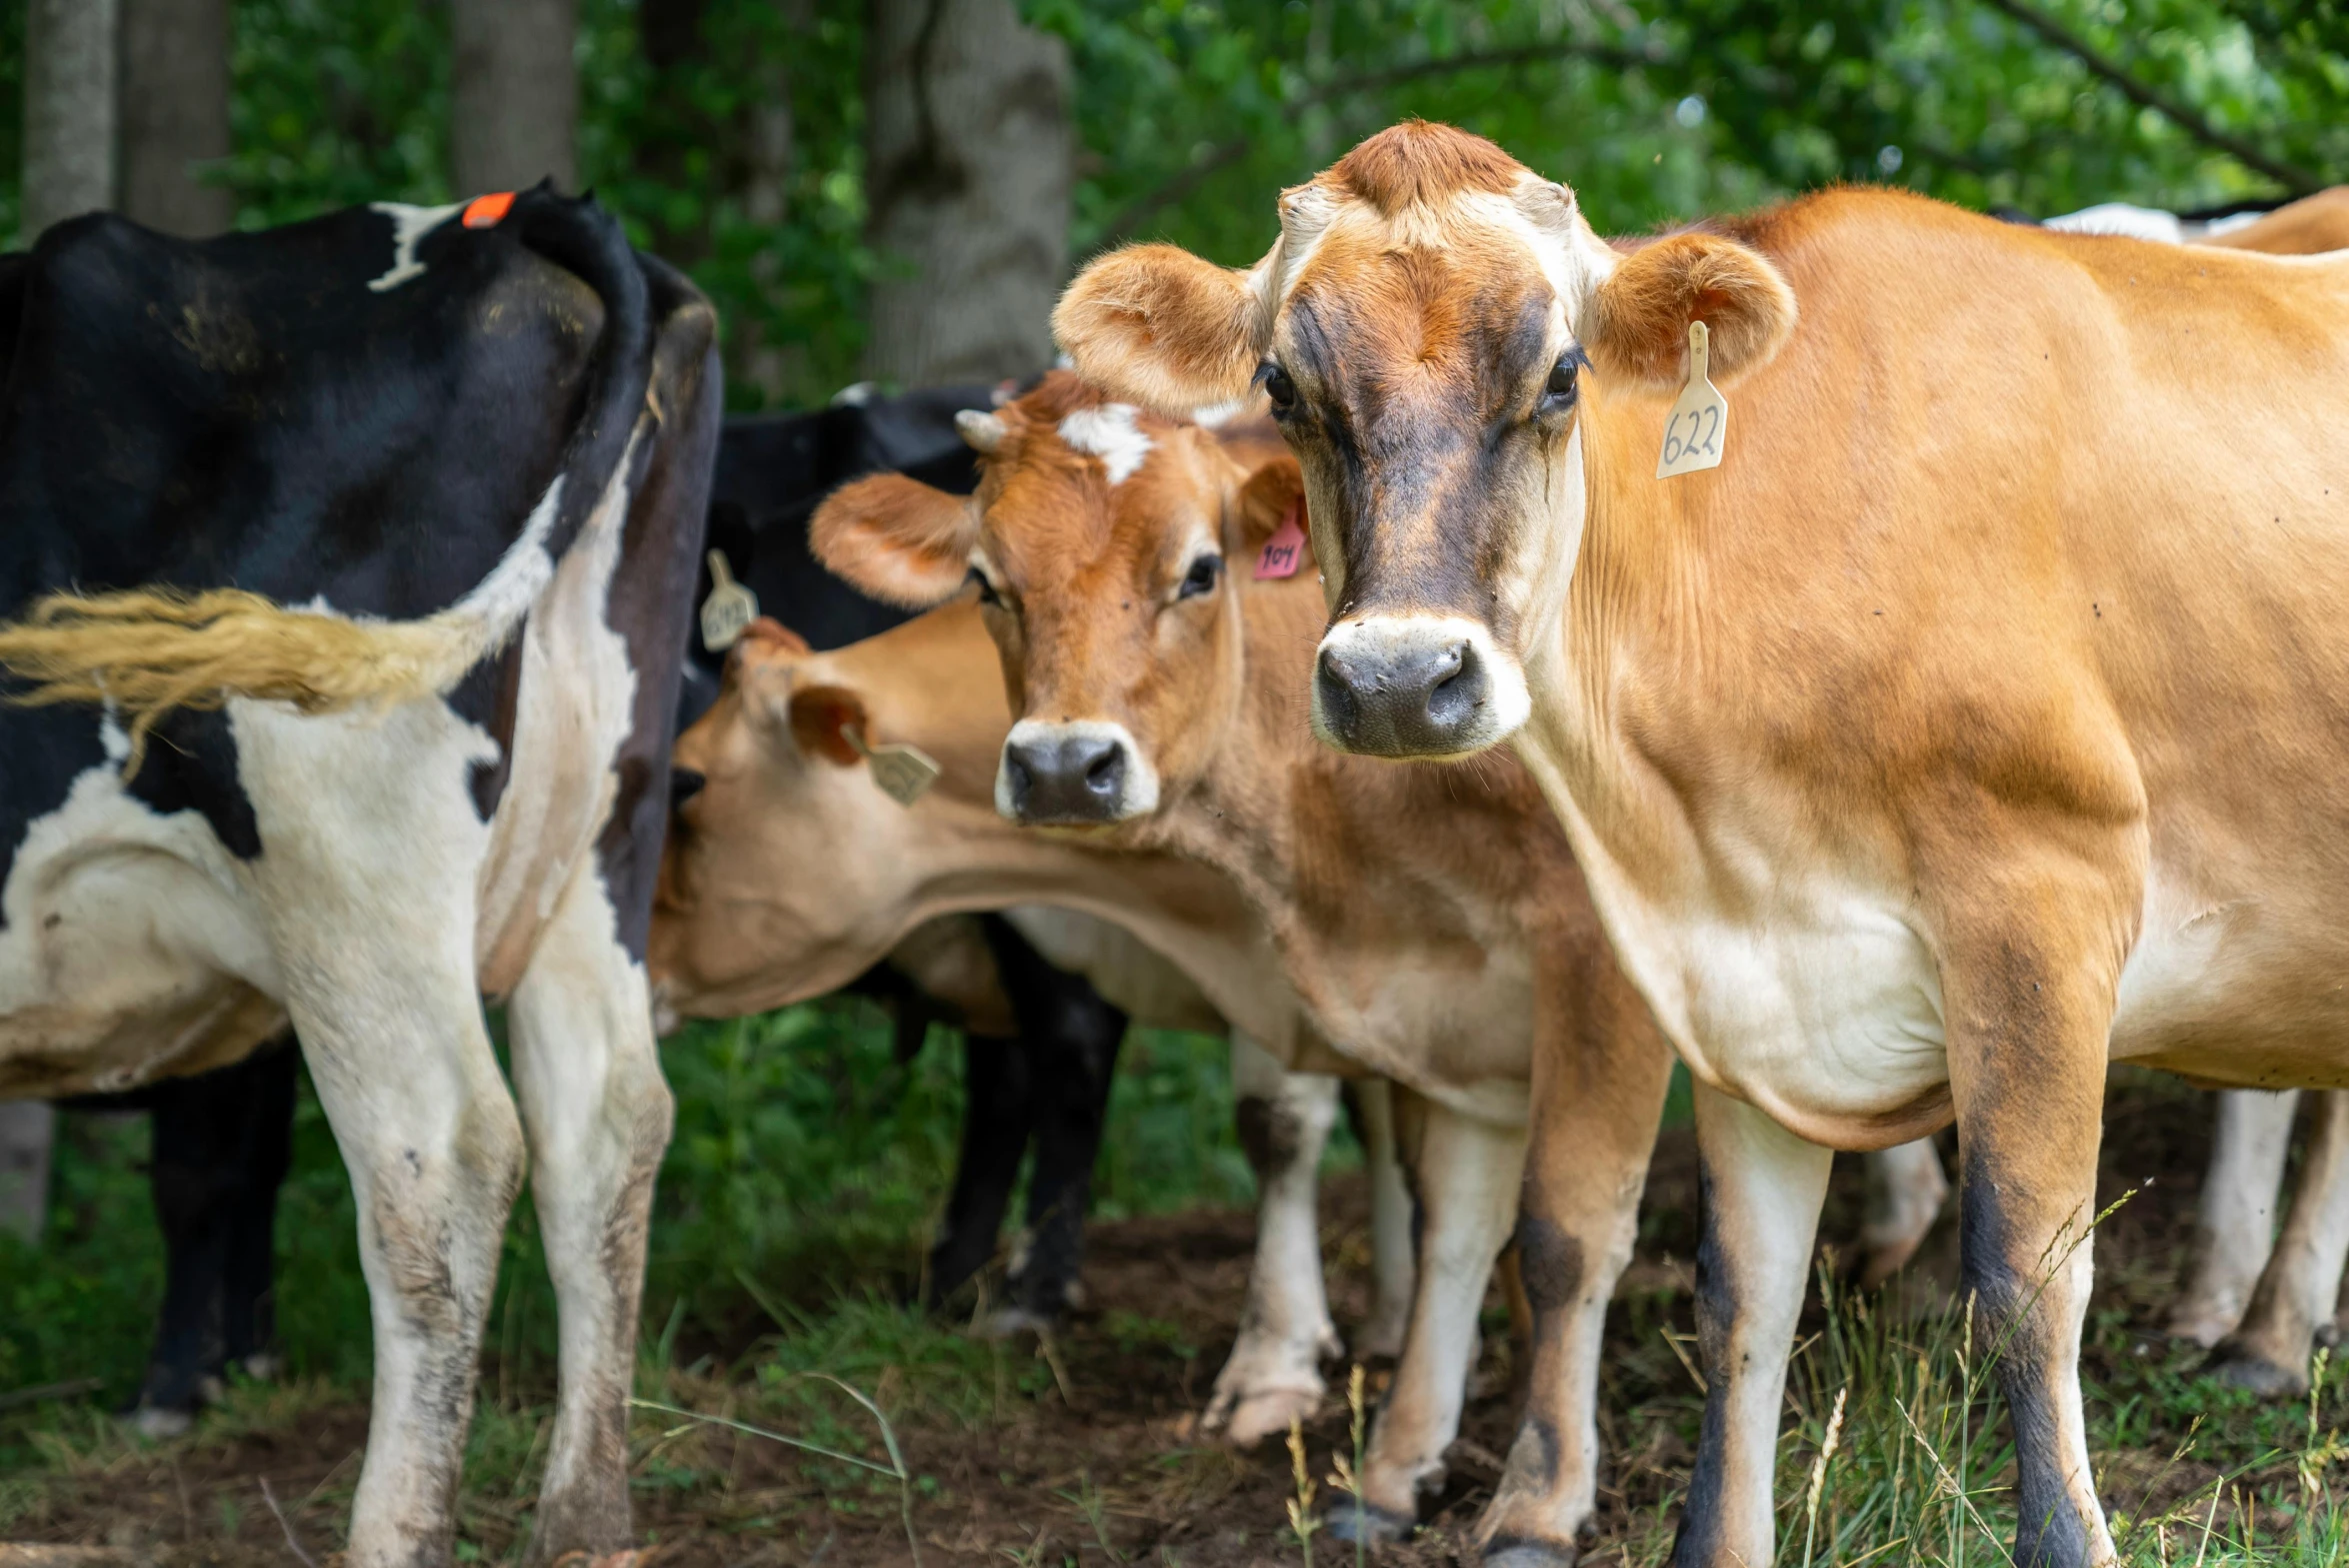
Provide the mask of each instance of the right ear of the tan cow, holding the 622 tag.
POLYGON ((1602 378, 1672 392, 1689 376, 1689 322, 1708 329, 1712 380, 1729 380, 1785 345, 1795 291, 1734 239, 1670 235, 1626 256, 1593 289, 1581 338, 1602 378))

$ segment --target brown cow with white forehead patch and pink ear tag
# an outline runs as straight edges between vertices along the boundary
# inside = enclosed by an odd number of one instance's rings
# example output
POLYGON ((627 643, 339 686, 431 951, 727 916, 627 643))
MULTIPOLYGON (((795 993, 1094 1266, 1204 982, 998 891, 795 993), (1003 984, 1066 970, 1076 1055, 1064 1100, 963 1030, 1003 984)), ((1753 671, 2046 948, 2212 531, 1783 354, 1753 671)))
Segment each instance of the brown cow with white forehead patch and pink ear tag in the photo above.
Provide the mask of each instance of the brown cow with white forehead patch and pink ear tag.
POLYGON ((1322 601, 1299 570, 1287 453, 1240 460, 1066 371, 965 425, 987 453, 977 498, 857 481, 815 514, 817 556, 907 601, 975 577, 1019 718, 996 807, 1212 866, 1271 930, 1318 1033, 1414 1091, 1419 1289, 1365 1509, 1339 1528, 1400 1537, 1442 1481, 1478 1305, 1515 1232, 1532 1401, 1480 1540, 1571 1533, 1670 1056, 1564 833, 1513 763, 1442 775, 1313 744, 1322 601))

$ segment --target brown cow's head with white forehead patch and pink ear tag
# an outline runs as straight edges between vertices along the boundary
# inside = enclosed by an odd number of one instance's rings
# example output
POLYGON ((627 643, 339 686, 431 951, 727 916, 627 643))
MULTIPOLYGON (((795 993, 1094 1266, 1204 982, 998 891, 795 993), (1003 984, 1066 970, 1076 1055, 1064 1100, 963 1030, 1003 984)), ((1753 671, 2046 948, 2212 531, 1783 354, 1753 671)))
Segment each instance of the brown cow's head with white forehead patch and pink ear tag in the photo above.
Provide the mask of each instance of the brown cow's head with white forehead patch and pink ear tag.
POLYGON ((1238 711, 1231 573, 1280 526, 1297 465, 1271 455, 1252 474, 1217 432, 1064 371, 963 425, 987 455, 977 495, 864 479, 815 514, 815 554, 909 603, 975 584, 1017 716, 996 810, 1055 826, 1149 817, 1238 711))

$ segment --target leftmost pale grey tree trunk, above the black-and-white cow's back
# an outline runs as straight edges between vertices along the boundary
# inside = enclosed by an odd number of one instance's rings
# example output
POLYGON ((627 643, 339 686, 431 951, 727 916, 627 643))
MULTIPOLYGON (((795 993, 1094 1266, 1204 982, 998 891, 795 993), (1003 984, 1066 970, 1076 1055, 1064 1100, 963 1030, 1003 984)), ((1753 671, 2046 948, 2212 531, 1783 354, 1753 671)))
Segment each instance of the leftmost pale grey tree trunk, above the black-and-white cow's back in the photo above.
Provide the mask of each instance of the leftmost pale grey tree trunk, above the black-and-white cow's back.
POLYGON ((23 242, 115 200, 115 0, 28 0, 23 242))

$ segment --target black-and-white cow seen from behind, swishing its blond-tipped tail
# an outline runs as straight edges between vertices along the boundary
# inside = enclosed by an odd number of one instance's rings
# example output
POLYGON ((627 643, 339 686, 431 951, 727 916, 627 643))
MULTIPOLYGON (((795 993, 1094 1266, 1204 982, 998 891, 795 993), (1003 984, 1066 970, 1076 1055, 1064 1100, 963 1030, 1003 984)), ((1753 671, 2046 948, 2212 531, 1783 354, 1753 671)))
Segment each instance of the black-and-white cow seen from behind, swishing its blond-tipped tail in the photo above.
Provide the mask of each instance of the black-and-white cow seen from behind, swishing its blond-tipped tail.
POLYGON ((449 1561, 529 1155, 561 1314, 531 1561, 622 1547, 709 305, 538 188, 204 242, 82 218, 0 263, 0 1091, 296 1026, 373 1303, 366 1566, 449 1561))

